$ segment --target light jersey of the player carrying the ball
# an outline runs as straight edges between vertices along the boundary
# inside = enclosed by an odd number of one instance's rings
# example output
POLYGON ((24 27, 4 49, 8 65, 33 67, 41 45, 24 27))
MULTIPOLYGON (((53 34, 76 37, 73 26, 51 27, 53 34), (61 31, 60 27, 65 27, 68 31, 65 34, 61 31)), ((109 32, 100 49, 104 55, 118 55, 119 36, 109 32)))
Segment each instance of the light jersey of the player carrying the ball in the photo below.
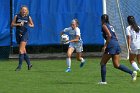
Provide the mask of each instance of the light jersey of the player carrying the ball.
MULTIPOLYGON (((72 27, 68 27, 68 28, 65 28, 63 31, 68 33, 69 40, 75 39, 76 36, 78 35, 80 37, 78 42, 82 43, 81 33, 80 33, 80 29, 78 27, 76 27, 75 29, 72 29, 72 27)), ((78 43, 78 42, 72 42, 72 43, 78 43)))

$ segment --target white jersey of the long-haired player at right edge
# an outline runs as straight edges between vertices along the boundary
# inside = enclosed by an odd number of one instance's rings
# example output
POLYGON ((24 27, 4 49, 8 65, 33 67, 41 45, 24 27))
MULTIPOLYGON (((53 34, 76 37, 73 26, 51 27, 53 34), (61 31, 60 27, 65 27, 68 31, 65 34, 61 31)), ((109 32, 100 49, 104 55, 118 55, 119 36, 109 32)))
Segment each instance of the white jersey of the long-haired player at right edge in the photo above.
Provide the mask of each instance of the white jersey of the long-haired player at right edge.
POLYGON ((126 28, 126 35, 131 37, 131 44, 130 44, 131 49, 133 50, 140 49, 140 31, 136 33, 131 28, 131 26, 128 26, 126 28))

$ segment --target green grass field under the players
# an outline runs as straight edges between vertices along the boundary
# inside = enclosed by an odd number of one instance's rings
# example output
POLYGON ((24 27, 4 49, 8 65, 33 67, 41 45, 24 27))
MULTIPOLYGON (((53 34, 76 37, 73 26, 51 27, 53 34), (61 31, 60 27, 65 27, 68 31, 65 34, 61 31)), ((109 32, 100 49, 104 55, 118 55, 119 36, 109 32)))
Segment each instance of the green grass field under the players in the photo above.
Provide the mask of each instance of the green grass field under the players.
MULTIPOLYGON (((107 85, 100 81, 100 59, 86 59, 83 68, 72 60, 72 72, 65 73, 65 60, 32 60, 28 71, 25 62, 21 71, 14 71, 18 60, 0 61, 0 93, 139 93, 140 77, 131 81, 129 74, 107 64, 107 85)), ((122 64, 131 68, 128 61, 122 64)), ((132 68, 131 68, 132 69, 132 68)))

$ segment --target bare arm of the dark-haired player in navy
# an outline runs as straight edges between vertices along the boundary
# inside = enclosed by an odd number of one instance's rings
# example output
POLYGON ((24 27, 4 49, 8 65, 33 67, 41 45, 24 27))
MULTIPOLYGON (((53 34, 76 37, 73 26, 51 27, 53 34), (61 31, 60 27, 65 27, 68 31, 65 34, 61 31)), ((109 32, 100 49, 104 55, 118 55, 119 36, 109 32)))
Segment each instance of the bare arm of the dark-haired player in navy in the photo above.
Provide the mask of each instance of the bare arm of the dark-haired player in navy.
POLYGON ((104 51, 106 49, 110 39, 111 39, 111 33, 110 33, 110 31, 109 31, 109 29, 107 28, 106 25, 103 25, 102 28, 105 31, 106 35, 107 35, 107 39, 106 39, 106 42, 105 42, 104 47, 103 47, 103 51, 104 51))

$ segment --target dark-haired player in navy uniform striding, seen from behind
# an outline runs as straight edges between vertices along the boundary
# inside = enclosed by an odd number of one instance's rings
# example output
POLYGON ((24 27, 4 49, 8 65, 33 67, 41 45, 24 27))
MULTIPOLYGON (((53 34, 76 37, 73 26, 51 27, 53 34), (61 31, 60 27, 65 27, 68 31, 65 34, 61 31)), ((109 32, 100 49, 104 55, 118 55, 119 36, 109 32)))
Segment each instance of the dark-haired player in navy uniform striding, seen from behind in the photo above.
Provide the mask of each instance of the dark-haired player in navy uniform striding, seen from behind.
POLYGON ((102 51, 104 52, 101 59, 101 81, 98 84, 107 84, 106 82, 106 63, 110 58, 112 58, 113 65, 116 69, 124 71, 132 76, 132 80, 135 81, 137 78, 137 72, 131 71, 126 66, 119 63, 121 48, 115 34, 115 30, 112 25, 109 23, 109 17, 107 14, 101 16, 102 22, 102 35, 106 40, 102 51))

